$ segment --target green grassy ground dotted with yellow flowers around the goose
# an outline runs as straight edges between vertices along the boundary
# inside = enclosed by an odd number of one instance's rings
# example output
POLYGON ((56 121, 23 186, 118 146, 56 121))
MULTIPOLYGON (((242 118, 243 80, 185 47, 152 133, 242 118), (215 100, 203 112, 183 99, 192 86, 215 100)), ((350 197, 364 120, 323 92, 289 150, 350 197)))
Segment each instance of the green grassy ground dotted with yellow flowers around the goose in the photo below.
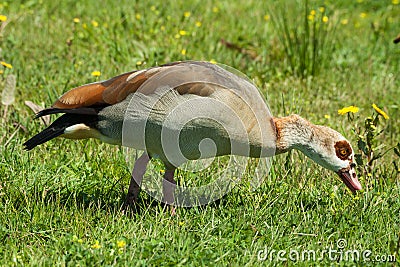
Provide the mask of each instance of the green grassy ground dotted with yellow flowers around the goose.
MULTIPOLYGON (((13 66, 3 68, 2 84, 10 74, 17 77, 15 102, 0 113, 0 265, 274 265, 279 250, 292 265, 293 251, 315 250, 320 258, 323 250, 341 247, 370 250, 371 259, 395 255, 399 263, 400 162, 393 150, 360 173, 364 190, 356 196, 334 173, 295 152, 276 157, 257 190, 244 182, 219 202, 179 208, 174 217, 144 193, 140 214, 120 212, 129 169, 119 147, 60 139, 22 150, 43 129, 25 100, 49 106, 77 85, 185 59, 239 69, 254 79, 274 115, 298 113, 339 130, 354 147, 376 103, 390 119, 380 117, 383 132, 372 141, 388 149, 400 139, 400 46, 392 43, 398 1, 319 1, 307 11, 290 1, 286 7, 267 1, 60 2, 0 3, 7 16, 0 57, 13 66), (306 17, 316 31, 301 35, 306 17), (277 23, 289 37, 298 30, 300 42, 310 37, 308 52, 294 49, 301 47, 296 42, 288 54, 277 23), (313 52, 313 42, 324 38, 313 52), (314 77, 302 70, 312 55, 314 77), (360 108, 353 119, 338 115, 350 105, 360 108), (275 250, 272 261, 258 259, 265 250, 275 250)), ((334 263, 325 254, 313 264, 334 263)), ((362 262, 343 257, 338 264, 362 262)))

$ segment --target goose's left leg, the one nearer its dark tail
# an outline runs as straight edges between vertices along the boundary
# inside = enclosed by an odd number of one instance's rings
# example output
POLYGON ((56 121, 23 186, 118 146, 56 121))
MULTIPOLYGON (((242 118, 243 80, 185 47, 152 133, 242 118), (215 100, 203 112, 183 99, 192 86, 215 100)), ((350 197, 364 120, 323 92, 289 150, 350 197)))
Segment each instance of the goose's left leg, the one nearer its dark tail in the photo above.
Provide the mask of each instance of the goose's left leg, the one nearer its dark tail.
POLYGON ((125 200, 125 206, 133 206, 136 203, 140 191, 140 184, 142 183, 143 176, 146 173, 146 167, 149 161, 150 156, 147 155, 147 153, 143 153, 143 155, 141 155, 135 162, 135 166, 132 170, 131 182, 128 188, 128 194, 125 200))

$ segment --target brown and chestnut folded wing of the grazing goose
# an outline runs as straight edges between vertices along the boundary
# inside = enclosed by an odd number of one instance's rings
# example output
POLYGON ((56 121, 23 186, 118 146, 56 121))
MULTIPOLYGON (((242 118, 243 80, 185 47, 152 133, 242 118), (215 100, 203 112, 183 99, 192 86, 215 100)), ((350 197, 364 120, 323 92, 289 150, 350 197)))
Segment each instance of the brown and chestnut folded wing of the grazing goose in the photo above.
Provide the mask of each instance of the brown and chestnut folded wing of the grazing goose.
POLYGON ((145 95, 168 86, 179 94, 210 96, 222 88, 233 90, 253 102, 256 87, 238 71, 202 61, 174 62, 141 71, 121 74, 106 81, 71 89, 52 105, 58 109, 74 109, 93 105, 113 105, 138 90, 145 95), (236 72, 236 73, 234 73, 236 72), (255 92, 254 92, 254 89, 255 92))

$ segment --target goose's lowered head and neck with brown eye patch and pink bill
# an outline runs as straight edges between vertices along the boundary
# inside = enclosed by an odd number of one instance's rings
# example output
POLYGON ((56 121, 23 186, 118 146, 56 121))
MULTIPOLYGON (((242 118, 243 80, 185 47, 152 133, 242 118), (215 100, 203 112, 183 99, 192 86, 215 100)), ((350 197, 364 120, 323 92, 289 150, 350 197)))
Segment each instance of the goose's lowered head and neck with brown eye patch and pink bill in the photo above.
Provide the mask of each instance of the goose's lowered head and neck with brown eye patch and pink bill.
POLYGON ((355 171, 354 150, 337 131, 314 125, 298 115, 274 119, 277 130, 277 152, 300 150, 322 167, 334 171, 355 193, 362 186, 355 171))

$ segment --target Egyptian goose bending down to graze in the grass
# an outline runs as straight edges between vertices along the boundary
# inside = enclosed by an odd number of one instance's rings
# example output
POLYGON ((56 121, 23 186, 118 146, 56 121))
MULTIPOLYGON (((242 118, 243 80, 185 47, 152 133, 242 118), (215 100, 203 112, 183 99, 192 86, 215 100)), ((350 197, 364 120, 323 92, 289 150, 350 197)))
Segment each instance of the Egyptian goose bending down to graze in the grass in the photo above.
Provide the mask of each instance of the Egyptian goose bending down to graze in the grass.
POLYGON ((128 204, 136 201, 152 157, 165 165, 168 204, 174 204, 175 169, 188 160, 270 157, 293 148, 336 172, 353 193, 361 189, 353 149, 341 134, 298 115, 272 117, 251 82, 208 62, 175 62, 83 85, 36 117, 56 113, 64 114, 26 141, 25 149, 62 136, 144 150, 132 172, 128 204), (202 148, 204 140, 213 145, 202 148))

